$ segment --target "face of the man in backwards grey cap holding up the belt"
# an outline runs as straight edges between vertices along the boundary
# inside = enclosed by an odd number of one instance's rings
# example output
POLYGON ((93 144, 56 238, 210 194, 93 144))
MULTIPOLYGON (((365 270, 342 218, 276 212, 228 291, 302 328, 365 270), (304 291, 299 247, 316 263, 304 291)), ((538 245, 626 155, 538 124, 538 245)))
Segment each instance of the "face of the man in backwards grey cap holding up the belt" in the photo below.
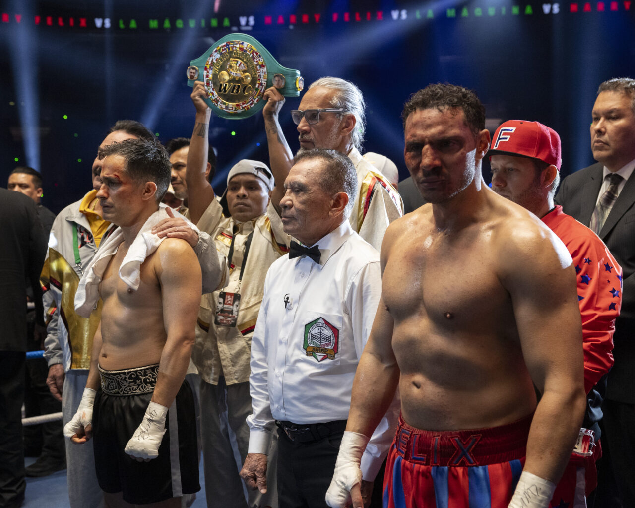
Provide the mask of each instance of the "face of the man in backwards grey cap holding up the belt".
POLYGON ((238 173, 227 184, 227 208, 234 219, 245 222, 267 211, 269 189, 251 173, 238 173))

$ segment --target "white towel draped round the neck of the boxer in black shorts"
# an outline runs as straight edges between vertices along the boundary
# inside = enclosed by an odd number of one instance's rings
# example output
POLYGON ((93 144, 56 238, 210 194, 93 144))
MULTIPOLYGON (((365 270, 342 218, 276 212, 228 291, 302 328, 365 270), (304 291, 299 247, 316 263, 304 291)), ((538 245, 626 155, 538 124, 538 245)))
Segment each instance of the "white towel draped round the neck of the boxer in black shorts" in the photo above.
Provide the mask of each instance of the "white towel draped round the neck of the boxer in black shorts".
MULTIPOLYGON (((152 227, 164 218, 170 216, 165 211, 166 205, 159 204, 159 210, 154 212, 145 224, 141 227, 137 237, 128 249, 128 253, 121 262, 119 267, 119 278, 124 281, 133 291, 137 291, 141 281, 141 265, 150 254, 157 250, 157 247, 165 239, 159 238, 156 234, 152 234, 152 227)), ((183 217, 177 211, 172 210, 175 217, 185 220, 194 231, 199 232, 198 228, 189 220, 183 217)), ((117 227, 105 240, 100 244, 99 249, 95 253, 95 257, 84 271, 83 277, 79 281, 77 291, 75 293, 75 311, 80 316, 88 318, 90 313, 97 307, 99 300, 99 283, 102 281, 106 267, 110 262, 110 258, 114 256, 119 248, 119 244, 123 242, 123 232, 117 227)))

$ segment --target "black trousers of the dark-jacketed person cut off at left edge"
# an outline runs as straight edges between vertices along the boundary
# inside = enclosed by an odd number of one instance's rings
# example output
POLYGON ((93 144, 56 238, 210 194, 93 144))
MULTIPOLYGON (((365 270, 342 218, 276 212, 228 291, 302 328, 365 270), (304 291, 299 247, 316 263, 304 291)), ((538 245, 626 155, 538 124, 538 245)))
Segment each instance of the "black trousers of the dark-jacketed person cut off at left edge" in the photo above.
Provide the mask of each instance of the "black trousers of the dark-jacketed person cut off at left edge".
POLYGON ((0 351, 0 507, 24 497, 22 401, 26 354, 0 351))

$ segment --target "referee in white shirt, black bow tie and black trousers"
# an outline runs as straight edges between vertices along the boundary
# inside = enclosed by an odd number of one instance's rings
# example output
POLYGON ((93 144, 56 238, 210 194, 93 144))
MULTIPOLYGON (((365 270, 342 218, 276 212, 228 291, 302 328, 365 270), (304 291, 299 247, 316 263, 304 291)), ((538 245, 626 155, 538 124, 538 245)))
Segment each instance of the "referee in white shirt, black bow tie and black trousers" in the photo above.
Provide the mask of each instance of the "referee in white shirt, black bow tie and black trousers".
MULTIPOLYGON (((347 218, 357 189, 351 160, 336 150, 298 154, 280 202, 284 232, 300 241, 271 265, 251 339, 253 415, 241 476, 280 508, 326 507, 351 389, 381 295, 378 252, 347 218), (277 479, 266 476, 279 435, 277 479)), ((391 443, 397 406, 378 425, 362 460, 364 500, 391 443)))

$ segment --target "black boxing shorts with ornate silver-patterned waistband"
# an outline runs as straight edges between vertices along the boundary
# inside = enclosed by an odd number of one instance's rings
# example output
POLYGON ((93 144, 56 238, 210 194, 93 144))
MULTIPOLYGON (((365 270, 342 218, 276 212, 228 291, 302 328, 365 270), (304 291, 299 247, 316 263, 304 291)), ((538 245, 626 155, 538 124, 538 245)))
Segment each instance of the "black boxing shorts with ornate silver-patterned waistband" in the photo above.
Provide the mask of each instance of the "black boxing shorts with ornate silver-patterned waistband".
POLYGON ((191 417, 194 398, 187 381, 170 406, 159 455, 150 462, 137 462, 124 452, 130 436, 144 418, 152 399, 159 365, 119 371, 99 370, 102 387, 93 406, 93 446, 100 457, 97 478, 105 492, 123 491, 124 500, 147 504, 196 492, 198 459, 196 421, 191 417), (147 478, 152 478, 148 482, 147 478))

